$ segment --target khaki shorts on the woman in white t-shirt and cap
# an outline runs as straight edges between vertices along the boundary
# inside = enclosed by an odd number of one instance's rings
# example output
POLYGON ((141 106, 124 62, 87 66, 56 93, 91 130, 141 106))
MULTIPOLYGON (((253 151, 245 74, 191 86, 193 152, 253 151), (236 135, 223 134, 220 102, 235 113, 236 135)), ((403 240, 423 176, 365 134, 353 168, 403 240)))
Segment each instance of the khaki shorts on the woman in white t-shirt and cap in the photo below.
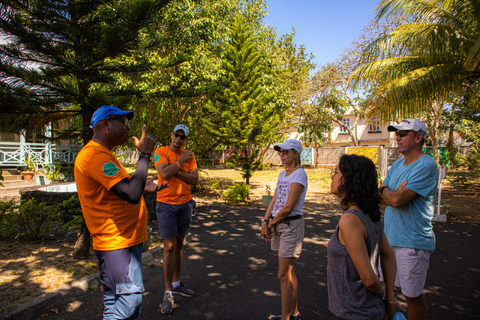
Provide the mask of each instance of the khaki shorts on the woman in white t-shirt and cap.
POLYGON ((302 217, 288 222, 275 226, 272 250, 277 251, 281 258, 300 258, 305 235, 305 220, 302 217))

